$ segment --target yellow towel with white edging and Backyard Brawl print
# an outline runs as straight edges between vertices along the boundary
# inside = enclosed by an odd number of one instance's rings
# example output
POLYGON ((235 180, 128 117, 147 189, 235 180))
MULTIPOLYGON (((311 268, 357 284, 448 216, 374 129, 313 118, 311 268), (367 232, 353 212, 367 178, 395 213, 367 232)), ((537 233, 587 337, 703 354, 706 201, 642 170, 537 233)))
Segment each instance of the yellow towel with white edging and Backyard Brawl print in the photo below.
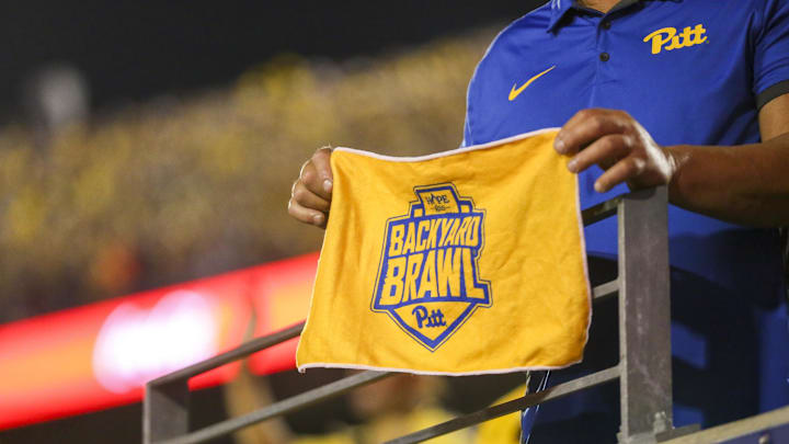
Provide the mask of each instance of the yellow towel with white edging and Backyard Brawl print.
POLYGON ((338 148, 299 371, 469 375, 581 361, 578 178, 556 129, 420 158, 338 148))

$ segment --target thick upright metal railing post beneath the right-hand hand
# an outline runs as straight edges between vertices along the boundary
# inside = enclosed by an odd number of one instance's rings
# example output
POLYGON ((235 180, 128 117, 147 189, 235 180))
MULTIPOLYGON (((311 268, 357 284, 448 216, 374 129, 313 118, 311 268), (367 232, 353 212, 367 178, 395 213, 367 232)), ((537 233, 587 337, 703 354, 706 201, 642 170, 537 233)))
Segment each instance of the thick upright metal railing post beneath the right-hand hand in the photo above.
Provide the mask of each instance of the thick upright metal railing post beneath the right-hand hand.
POLYGON ((619 203, 620 444, 654 443, 672 430, 667 192, 619 203))

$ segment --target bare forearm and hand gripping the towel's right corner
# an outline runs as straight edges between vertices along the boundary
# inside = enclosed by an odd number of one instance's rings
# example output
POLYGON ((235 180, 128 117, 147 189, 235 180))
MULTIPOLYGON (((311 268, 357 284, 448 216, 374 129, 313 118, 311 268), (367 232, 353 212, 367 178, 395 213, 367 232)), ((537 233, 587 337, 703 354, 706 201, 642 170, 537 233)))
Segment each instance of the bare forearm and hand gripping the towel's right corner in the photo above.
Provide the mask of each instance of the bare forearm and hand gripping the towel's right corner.
POLYGON ((627 182, 631 189, 667 184, 683 208, 739 224, 789 225, 789 94, 759 112, 763 143, 732 147, 662 147, 627 113, 584 110, 557 136, 568 169, 599 164, 599 192, 627 182))

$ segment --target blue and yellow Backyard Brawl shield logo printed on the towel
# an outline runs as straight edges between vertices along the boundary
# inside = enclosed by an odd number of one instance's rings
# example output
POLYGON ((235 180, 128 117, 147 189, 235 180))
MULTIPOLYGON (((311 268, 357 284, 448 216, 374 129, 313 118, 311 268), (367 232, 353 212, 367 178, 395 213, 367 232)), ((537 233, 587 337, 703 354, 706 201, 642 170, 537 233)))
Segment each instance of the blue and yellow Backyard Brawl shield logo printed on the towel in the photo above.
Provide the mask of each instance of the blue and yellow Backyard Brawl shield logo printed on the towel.
POLYGON ((387 220, 370 308, 435 351, 477 307, 491 306, 477 263, 485 213, 451 183, 415 186, 414 194, 407 215, 387 220))

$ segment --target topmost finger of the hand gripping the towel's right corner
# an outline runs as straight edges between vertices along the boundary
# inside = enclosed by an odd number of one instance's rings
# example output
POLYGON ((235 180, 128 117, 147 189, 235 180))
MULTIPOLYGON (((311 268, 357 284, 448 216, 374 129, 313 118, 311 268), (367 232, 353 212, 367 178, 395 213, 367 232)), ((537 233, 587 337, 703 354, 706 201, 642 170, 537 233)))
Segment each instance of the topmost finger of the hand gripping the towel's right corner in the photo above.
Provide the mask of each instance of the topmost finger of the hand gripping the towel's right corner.
POLYGON ((574 156, 603 136, 624 133, 627 123, 627 114, 619 111, 581 110, 562 126, 553 146, 560 155, 574 156))

